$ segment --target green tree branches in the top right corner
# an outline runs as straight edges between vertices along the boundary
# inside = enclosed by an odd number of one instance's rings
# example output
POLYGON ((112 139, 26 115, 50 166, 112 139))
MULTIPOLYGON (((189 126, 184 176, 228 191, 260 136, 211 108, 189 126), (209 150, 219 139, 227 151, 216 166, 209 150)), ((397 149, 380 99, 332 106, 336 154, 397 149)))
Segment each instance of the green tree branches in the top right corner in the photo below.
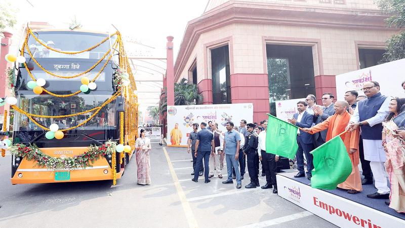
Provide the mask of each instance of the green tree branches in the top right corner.
POLYGON ((387 25, 401 29, 400 33, 387 40, 381 63, 405 58, 405 31, 402 29, 405 26, 405 0, 379 0, 377 5, 384 13, 391 15, 385 20, 387 25))

